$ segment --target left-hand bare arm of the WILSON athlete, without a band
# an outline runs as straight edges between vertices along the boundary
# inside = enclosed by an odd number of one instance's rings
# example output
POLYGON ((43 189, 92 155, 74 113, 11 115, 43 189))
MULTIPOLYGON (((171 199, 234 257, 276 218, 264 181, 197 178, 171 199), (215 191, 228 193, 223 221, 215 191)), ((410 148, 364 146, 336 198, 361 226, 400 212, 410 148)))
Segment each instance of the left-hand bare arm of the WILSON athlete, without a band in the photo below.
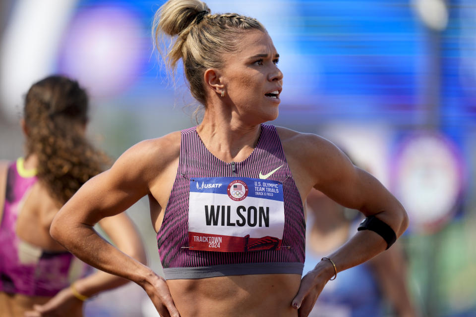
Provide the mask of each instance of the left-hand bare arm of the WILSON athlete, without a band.
MULTIPOLYGON (((163 316, 179 316, 165 280, 146 265, 102 239, 93 226, 128 209, 174 159, 171 137, 143 141, 127 150, 107 171, 86 182, 60 209, 50 233, 82 261, 139 284, 163 316)), ((83 295, 89 296, 88 290, 83 295)))

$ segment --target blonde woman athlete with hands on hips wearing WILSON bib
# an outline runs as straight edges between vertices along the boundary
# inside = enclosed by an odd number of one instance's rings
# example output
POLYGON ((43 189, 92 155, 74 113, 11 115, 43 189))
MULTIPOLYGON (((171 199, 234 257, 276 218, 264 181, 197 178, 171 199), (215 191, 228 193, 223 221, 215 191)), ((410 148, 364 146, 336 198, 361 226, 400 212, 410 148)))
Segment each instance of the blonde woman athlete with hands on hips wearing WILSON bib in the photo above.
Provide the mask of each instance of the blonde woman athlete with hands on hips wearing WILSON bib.
POLYGON ((166 56, 172 69, 182 60, 203 120, 127 150, 66 203, 51 234, 83 261, 141 285, 161 316, 307 316, 329 279, 405 231, 407 214, 331 142, 265 124, 278 116, 283 90, 273 41, 253 18, 210 12, 199 0, 169 0, 153 27, 156 39, 176 37, 166 56), (301 279, 312 188, 369 221, 301 279), (145 195, 165 278, 92 228, 145 195))

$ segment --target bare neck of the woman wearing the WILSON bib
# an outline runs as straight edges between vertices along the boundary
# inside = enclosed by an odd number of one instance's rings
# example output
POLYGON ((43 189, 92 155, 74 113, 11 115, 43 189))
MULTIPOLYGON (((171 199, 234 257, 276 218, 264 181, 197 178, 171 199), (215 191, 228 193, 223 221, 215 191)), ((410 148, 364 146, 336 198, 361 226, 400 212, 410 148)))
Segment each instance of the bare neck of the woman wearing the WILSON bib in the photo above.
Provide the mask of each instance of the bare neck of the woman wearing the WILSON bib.
POLYGON ((245 124, 241 120, 212 115, 207 111, 197 127, 197 133, 208 151, 218 159, 239 162, 253 152, 260 124, 245 124))

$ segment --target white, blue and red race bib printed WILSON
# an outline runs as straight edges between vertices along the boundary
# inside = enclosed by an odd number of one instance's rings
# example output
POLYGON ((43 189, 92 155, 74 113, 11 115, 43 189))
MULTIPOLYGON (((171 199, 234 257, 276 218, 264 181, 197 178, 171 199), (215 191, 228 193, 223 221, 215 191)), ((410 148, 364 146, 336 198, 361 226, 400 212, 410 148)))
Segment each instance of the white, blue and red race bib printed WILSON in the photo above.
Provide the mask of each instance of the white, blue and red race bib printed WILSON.
POLYGON ((192 250, 276 250, 283 231, 280 182, 246 177, 190 179, 188 244, 192 250))

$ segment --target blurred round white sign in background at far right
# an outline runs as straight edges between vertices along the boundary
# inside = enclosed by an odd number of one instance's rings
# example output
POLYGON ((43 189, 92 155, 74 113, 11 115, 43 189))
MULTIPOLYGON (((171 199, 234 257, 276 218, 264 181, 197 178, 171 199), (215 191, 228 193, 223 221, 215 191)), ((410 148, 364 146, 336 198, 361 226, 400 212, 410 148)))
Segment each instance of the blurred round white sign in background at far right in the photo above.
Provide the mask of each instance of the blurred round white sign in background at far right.
POLYGON ((409 213, 411 228, 433 231, 449 220, 463 189, 459 149, 437 132, 405 139, 394 157, 394 193, 409 213))

